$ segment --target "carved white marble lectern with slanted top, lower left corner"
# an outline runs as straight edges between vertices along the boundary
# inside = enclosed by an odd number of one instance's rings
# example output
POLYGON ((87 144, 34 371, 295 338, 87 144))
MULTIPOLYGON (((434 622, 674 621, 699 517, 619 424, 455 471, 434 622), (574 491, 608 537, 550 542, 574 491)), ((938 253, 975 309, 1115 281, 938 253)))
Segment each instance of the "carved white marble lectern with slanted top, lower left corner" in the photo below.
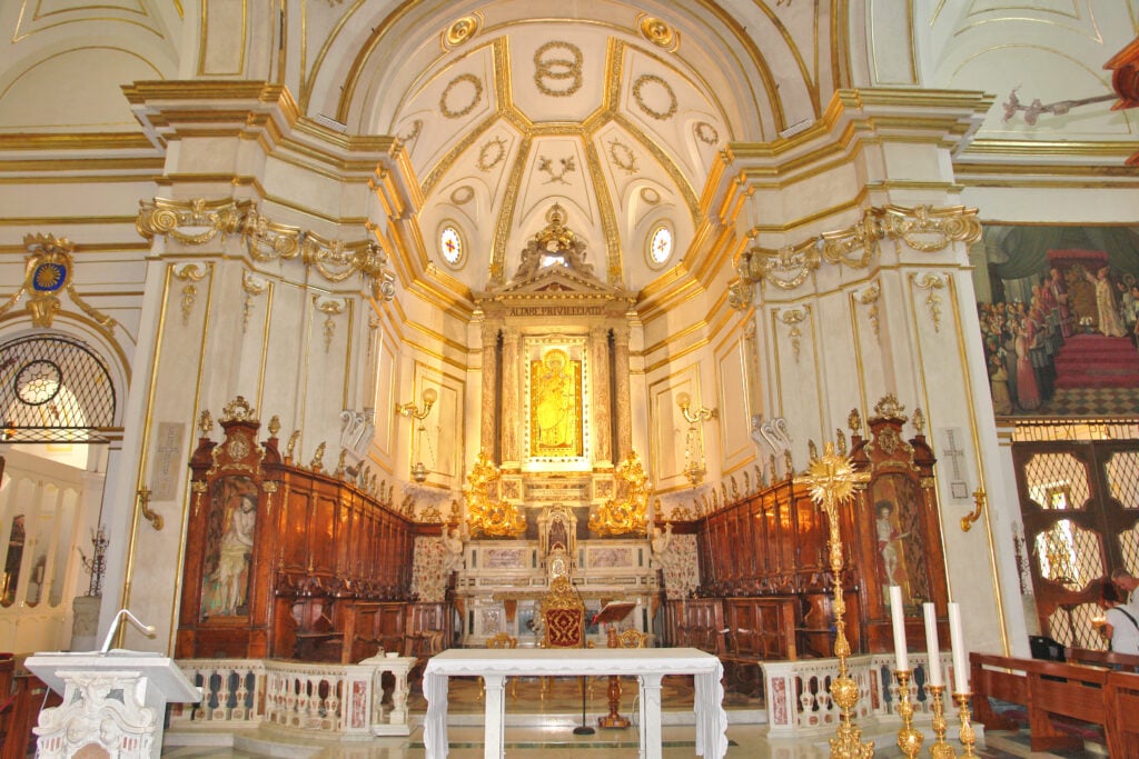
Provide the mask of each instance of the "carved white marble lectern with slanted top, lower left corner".
POLYGON ((118 759, 157 759, 166 704, 202 700, 200 688, 157 653, 36 653, 25 666, 64 696, 62 706, 40 712, 33 728, 36 756, 44 759, 84 746, 118 759))

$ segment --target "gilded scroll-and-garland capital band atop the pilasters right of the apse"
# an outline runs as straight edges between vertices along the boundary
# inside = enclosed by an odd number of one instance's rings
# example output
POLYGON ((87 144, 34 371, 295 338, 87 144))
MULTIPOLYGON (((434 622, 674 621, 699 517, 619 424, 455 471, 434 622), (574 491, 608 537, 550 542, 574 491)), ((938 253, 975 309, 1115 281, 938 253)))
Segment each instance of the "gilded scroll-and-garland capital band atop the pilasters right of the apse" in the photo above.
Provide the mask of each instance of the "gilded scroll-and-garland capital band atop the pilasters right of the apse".
POLYGON ((976 208, 964 206, 872 207, 846 229, 823 232, 778 250, 753 246, 739 257, 738 280, 729 286, 729 305, 736 310, 749 307, 751 287, 760 281, 793 290, 822 262, 866 269, 877 257, 884 239, 901 240, 919 253, 941 253, 953 242, 968 245, 981 236, 976 214, 976 208))

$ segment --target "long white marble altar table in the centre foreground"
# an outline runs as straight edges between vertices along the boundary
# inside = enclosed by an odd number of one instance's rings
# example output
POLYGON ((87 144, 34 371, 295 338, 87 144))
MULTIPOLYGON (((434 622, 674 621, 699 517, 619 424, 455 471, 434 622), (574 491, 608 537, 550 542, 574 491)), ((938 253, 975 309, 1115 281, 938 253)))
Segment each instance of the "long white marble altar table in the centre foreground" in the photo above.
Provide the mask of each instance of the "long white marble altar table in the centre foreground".
POLYGON ((632 675, 640 683, 640 759, 661 759, 661 678, 694 675, 696 753, 722 759, 728 751, 722 674, 720 660, 697 649, 449 649, 432 657, 424 671, 427 759, 448 753, 448 678, 475 675, 485 682, 485 759, 505 756, 507 677, 599 675, 632 675))

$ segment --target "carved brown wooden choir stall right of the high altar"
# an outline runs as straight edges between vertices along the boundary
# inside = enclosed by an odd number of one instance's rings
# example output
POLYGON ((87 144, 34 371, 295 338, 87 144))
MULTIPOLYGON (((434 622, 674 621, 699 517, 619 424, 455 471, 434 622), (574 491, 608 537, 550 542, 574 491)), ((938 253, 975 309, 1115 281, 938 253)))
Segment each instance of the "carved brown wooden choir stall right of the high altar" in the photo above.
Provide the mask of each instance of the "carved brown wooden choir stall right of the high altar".
MULTIPOLYGON (((854 501, 839 509, 845 632, 855 653, 893 650, 891 585, 902 588, 909 640, 924 640, 926 601, 936 604, 940 634, 948 634, 935 459, 920 410, 913 412, 915 435, 903 437, 903 410, 893 396, 883 398, 868 421, 868 438, 858 413, 850 419, 849 455, 870 478, 854 501)), ((841 432, 839 448, 846 453, 841 432)), ((759 683, 746 682, 757 677, 748 665, 833 655, 828 528, 806 486, 788 476, 738 494, 694 521, 674 523, 674 530, 697 536, 700 586, 694 599, 667 602, 671 644, 716 653, 729 677, 743 678, 749 687, 759 683)))

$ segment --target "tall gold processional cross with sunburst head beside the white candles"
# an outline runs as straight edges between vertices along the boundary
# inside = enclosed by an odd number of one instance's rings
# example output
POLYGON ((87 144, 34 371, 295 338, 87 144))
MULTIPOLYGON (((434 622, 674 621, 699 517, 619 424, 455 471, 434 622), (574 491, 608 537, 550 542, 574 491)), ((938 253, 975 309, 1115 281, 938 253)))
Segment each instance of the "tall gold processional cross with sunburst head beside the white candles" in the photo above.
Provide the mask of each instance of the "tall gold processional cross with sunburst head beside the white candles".
POLYGON ((830 683, 830 696, 842 709, 838 718, 838 735, 830 739, 831 759, 871 759, 874 741, 862 742, 862 731, 854 725, 851 712, 858 703, 858 683, 846 671, 846 657, 851 644, 846 640, 843 614, 843 538, 838 529, 838 506, 854 496, 857 485, 870 479, 867 472, 854 471, 845 456, 835 453, 835 444, 826 443, 822 455, 812 459, 806 473, 795 478, 795 485, 811 489, 811 500, 827 512, 830 527, 830 571, 835 577, 835 655, 838 658, 838 677, 830 683))

